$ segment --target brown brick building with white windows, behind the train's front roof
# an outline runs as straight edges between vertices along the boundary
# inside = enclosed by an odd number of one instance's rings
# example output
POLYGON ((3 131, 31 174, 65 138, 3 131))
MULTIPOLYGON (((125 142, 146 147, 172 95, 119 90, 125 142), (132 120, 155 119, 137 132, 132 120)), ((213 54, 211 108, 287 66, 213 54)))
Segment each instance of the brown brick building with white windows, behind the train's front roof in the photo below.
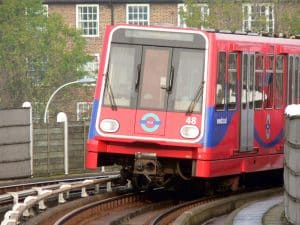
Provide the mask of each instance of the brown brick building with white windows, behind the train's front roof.
MULTIPOLYGON (((99 60, 108 24, 178 25, 178 0, 45 0, 48 13, 59 13, 67 24, 81 28, 87 52, 99 60), (133 3, 131 3, 133 2, 133 3)), ((95 67, 94 67, 95 68, 95 67)))

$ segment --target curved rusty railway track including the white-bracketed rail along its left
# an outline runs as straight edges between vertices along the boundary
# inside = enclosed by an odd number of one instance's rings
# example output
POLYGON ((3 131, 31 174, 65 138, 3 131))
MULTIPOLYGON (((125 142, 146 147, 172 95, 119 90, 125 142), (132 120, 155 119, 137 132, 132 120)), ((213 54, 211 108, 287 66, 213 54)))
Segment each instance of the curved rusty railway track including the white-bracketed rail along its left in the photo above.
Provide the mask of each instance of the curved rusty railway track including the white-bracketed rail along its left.
POLYGON ((119 176, 102 177, 64 184, 52 190, 49 186, 40 190, 34 189, 38 195, 28 196, 23 203, 14 204, 5 214, 1 225, 191 225, 191 221, 195 221, 191 215, 196 216, 196 224, 201 224, 211 217, 229 213, 248 200, 278 193, 277 188, 186 201, 174 198, 174 192, 162 189, 142 193, 112 191, 111 182, 117 179, 119 176), (100 185, 106 190, 99 191, 100 185), (75 191, 82 198, 66 202, 75 191), (52 205, 55 207, 50 208, 52 205), (198 209, 197 213, 195 208, 198 209), (196 214, 200 214, 200 217, 196 214))

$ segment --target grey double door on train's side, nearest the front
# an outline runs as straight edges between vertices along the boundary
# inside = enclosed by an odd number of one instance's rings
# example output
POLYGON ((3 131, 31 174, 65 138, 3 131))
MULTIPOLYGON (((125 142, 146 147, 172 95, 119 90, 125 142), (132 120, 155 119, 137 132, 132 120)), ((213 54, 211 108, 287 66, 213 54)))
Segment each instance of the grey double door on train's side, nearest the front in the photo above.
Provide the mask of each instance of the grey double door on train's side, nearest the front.
POLYGON ((252 151, 254 140, 254 54, 242 54, 240 151, 252 151))

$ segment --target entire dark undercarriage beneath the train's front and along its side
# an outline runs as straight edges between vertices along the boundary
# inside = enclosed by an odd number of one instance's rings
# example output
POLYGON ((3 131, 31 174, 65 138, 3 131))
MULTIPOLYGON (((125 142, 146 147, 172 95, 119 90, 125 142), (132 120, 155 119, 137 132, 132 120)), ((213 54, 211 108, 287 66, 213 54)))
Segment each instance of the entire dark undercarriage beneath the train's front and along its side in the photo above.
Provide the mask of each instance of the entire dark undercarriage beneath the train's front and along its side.
POLYGON ((154 153, 132 155, 101 154, 100 166, 118 165, 124 182, 130 180, 137 190, 175 188, 202 193, 236 191, 253 185, 282 183, 282 169, 231 176, 200 178, 193 176, 193 160, 158 158, 154 153))

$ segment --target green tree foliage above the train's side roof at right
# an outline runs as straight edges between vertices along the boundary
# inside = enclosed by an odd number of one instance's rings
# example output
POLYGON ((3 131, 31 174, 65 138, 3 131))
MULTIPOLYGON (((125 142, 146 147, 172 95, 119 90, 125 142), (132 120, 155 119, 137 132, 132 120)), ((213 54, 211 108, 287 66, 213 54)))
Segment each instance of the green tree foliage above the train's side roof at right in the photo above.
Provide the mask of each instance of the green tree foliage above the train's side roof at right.
MULTIPOLYGON (((187 26, 230 31, 241 30, 243 19, 249 19, 250 11, 244 7, 244 4, 248 4, 252 9, 250 15, 252 20, 251 30, 249 31, 265 33, 266 30, 269 30, 267 26, 270 25, 268 24, 269 20, 273 19, 274 10, 276 18, 275 33, 286 35, 300 33, 300 7, 298 1, 270 0, 265 4, 260 0, 211 0, 205 4, 209 9, 208 15, 201 14, 199 6, 201 4, 197 0, 184 0, 184 9, 180 10, 180 16, 187 26), (269 14, 265 13, 266 7, 269 7, 269 14)), ((271 30, 270 32, 273 33, 274 31, 271 30)))

